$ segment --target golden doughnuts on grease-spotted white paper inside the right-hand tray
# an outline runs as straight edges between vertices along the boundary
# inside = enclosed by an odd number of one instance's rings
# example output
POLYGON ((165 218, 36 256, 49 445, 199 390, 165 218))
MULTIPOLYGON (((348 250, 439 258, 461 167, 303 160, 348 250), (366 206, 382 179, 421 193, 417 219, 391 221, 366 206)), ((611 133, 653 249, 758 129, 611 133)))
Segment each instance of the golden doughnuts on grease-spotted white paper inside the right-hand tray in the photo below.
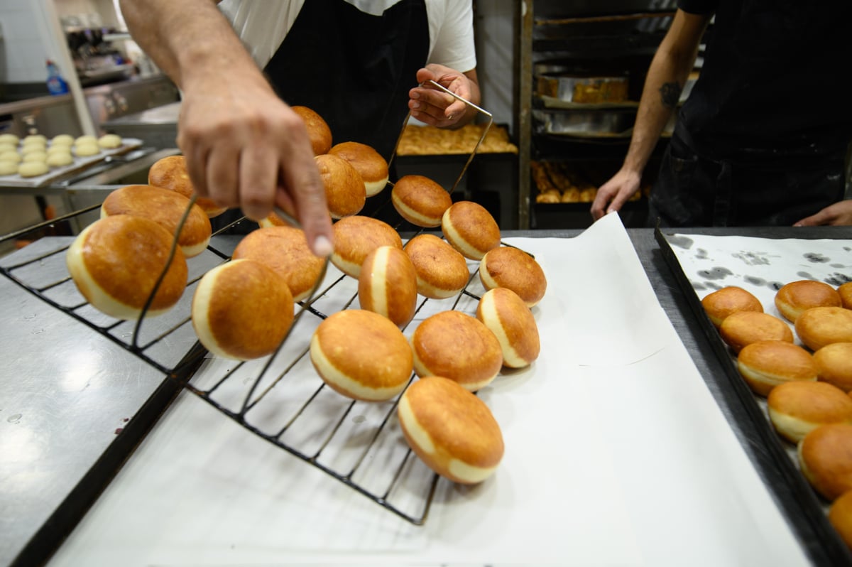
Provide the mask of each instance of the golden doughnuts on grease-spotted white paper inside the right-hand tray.
POLYGON ((852 240, 665 239, 734 384, 852 547, 852 240))

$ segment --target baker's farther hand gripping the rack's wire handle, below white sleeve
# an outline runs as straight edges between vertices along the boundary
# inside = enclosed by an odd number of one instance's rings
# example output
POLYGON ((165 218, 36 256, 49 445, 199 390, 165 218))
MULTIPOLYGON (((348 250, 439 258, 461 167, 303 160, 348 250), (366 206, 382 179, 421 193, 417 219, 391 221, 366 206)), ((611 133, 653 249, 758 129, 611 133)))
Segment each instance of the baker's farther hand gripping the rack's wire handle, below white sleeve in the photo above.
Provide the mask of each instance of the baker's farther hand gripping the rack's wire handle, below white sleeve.
POLYGON ((436 89, 428 83, 429 80, 435 81, 466 101, 476 105, 480 102, 475 70, 458 72, 443 65, 429 64, 417 71, 417 83, 423 86, 417 86, 408 92, 408 107, 412 110, 412 117, 440 128, 458 127, 475 117, 477 111, 474 107, 469 107, 443 90, 436 89))

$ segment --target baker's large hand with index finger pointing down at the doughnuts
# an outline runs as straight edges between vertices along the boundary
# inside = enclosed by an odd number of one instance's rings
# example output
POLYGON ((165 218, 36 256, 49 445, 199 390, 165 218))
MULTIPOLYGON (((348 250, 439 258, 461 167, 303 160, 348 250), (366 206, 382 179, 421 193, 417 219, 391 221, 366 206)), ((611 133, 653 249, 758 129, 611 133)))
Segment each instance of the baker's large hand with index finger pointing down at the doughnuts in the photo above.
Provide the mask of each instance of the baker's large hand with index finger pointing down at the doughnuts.
POLYGON ((278 205, 327 256, 331 217, 304 122, 259 72, 231 73, 183 88, 177 144, 196 192, 253 220, 278 205))

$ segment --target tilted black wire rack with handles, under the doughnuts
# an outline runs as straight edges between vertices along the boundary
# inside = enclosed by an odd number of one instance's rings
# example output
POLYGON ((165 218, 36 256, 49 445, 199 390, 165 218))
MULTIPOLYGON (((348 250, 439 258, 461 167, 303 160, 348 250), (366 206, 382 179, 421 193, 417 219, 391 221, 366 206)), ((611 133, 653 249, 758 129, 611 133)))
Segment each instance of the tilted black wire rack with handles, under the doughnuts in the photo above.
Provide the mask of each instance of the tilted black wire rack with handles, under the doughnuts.
MULTIPOLYGON (((481 108, 477 110, 486 113, 481 108)), ((491 119, 490 114, 486 115, 491 119)), ((483 131, 480 142, 487 130, 483 131)), ((461 181, 475 151, 452 189, 461 181)), ((387 191, 383 195, 389 202, 387 191)), ((49 233, 56 224, 98 206, 8 234, 0 242, 37 238, 49 233)), ((65 264, 72 236, 35 240, 0 259, 0 272, 56 310, 175 379, 182 388, 257 436, 319 468, 400 518, 422 525, 439 477, 416 458, 402 437, 394 415, 399 396, 389 402, 349 400, 325 387, 306 356, 314 328, 326 314, 348 309, 355 303, 357 281, 329 267, 325 279, 317 286, 318 291, 302 302, 288 338, 271 356, 249 362, 206 356, 192 327, 193 291, 208 270, 230 259, 242 237, 226 233, 239 223, 250 221, 239 219, 220 229, 213 234, 206 251, 187 259, 187 288, 175 307, 164 315, 143 316, 139 321, 118 321, 103 315, 78 292, 65 264)), ((474 310, 483 290, 477 289, 478 263, 469 263, 469 268, 468 286, 458 297, 421 298, 415 317, 449 309, 474 310)))

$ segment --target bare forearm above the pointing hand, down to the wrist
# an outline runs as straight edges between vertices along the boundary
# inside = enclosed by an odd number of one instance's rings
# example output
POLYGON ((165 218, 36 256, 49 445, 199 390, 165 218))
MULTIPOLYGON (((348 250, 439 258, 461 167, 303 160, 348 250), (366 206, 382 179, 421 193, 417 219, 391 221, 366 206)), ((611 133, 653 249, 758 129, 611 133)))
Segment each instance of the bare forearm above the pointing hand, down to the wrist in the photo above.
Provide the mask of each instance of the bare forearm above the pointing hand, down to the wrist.
POLYGON ((181 89, 221 78, 222 69, 256 71, 215 2, 120 1, 135 42, 181 89))

